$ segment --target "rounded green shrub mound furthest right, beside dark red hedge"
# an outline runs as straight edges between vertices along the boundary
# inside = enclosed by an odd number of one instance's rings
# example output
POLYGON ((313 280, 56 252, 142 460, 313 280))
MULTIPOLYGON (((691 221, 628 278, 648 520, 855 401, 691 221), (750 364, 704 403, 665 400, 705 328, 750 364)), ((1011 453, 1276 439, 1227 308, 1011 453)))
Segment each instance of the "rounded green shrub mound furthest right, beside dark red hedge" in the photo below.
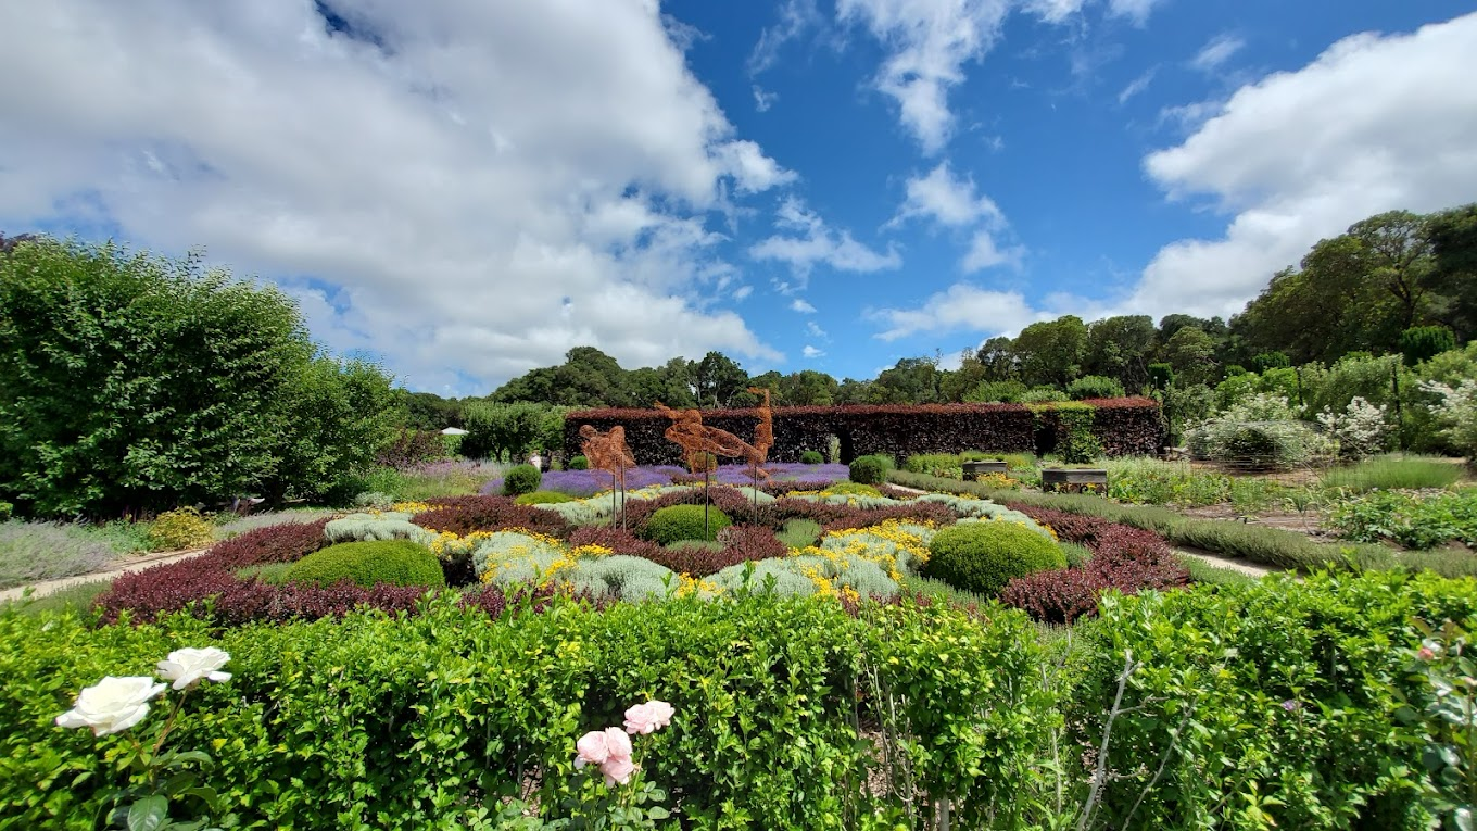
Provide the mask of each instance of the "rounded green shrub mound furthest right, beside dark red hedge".
POLYGON ((1015 522, 969 522, 933 535, 923 575, 994 596, 1012 578, 1056 568, 1066 568, 1066 554, 1035 531, 1015 522))

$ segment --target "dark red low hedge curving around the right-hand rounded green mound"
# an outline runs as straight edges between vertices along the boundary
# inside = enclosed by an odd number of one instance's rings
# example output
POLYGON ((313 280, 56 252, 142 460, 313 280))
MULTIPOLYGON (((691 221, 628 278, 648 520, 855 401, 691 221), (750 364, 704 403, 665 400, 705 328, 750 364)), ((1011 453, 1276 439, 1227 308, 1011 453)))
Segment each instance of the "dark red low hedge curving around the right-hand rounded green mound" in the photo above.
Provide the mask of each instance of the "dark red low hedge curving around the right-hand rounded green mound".
POLYGON ((1000 602, 1024 609, 1046 623, 1072 623, 1097 612, 1103 591, 1125 594, 1143 589, 1174 589, 1189 583, 1189 572, 1170 546, 1151 531, 1050 509, 1013 506, 1031 519, 1050 525, 1060 540, 1092 549, 1080 566, 1041 571, 1006 584, 1000 602))

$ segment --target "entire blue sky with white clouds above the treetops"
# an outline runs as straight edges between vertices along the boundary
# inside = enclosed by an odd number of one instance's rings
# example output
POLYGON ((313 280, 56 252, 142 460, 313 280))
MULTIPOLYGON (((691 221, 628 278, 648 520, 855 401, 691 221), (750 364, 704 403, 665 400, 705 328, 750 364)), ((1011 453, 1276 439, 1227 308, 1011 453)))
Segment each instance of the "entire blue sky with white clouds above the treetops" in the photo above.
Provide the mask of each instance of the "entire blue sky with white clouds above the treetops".
POLYGON ((1470 3, 6 4, 0 229, 204 247, 442 395, 1229 315, 1477 200, 1470 3))

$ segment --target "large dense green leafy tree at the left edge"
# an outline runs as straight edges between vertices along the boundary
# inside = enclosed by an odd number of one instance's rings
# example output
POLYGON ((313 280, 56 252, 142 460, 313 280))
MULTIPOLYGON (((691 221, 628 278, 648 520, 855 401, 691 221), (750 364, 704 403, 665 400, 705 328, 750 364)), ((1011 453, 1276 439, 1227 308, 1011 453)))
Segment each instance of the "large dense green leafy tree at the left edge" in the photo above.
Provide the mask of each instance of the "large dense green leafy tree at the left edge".
POLYGON ((291 299, 198 256, 15 245, 0 254, 0 498, 117 516, 281 489, 301 461, 284 435, 298 430, 354 464, 378 448, 352 445, 378 427, 341 408, 304 423, 301 396, 343 383, 383 402, 388 380, 340 370, 315 358, 291 299))

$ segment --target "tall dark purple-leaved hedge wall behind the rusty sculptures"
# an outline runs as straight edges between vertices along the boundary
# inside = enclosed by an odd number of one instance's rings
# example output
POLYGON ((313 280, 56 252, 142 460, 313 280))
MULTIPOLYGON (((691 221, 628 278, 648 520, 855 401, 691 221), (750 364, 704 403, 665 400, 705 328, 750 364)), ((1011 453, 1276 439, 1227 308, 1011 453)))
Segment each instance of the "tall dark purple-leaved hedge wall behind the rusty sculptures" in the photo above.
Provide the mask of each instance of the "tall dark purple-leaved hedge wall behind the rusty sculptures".
MULTIPOLYGON (((1149 398, 1093 399, 1093 433, 1109 455, 1155 454, 1164 444, 1159 404, 1149 398)), ((1050 407, 1035 413, 1019 404, 928 404, 886 407, 777 407, 771 461, 799 461, 806 450, 824 451, 830 436, 840 439, 842 461, 886 452, 962 450, 1035 451, 1056 448, 1056 420, 1050 407)), ((749 441, 758 421, 755 410, 705 410, 709 424, 749 441)), ((678 464, 679 448, 663 435, 671 418, 656 410, 576 410, 564 416, 564 447, 579 447, 579 427, 626 429, 626 444, 640 464, 678 464)))

